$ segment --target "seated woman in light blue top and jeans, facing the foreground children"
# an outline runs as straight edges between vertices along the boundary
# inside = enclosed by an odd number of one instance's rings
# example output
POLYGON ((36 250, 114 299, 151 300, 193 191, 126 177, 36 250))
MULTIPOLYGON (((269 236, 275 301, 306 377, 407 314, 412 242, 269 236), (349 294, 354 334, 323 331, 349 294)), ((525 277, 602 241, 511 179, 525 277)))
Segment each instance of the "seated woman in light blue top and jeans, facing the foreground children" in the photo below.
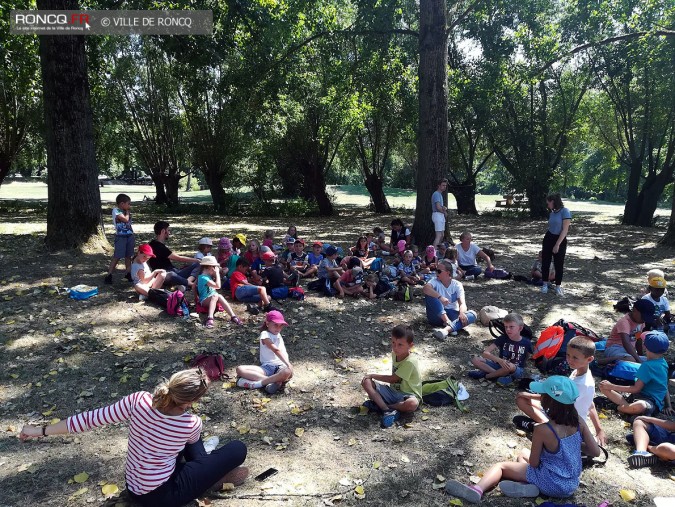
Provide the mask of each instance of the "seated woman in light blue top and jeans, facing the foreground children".
POLYGON ((422 289, 427 310, 427 321, 434 327, 434 338, 445 339, 448 334, 476 322, 476 312, 467 310, 464 287, 452 278, 452 262, 441 259, 436 265, 436 277, 422 289))

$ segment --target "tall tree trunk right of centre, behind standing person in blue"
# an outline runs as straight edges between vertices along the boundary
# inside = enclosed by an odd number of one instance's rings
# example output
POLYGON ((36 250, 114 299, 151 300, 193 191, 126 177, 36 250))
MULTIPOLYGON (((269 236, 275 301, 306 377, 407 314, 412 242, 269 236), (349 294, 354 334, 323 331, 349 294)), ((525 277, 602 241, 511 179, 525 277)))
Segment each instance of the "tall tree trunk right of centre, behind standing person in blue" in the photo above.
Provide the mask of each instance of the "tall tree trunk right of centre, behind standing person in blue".
POLYGON ((448 174, 448 37, 446 2, 420 0, 419 130, 417 208, 413 236, 418 245, 434 238, 431 194, 448 174))

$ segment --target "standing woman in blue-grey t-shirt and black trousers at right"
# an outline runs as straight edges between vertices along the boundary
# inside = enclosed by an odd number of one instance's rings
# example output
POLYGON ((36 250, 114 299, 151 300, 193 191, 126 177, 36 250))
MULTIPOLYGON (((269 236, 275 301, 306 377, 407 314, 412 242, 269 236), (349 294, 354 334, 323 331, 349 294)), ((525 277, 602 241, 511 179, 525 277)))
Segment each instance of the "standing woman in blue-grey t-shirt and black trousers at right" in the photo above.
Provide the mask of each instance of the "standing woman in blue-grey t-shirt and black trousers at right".
POLYGON ((567 234, 570 230, 572 213, 567 209, 560 198, 560 194, 551 194, 546 197, 546 206, 551 211, 548 216, 548 230, 544 235, 541 253, 541 278, 544 285, 541 286, 542 294, 548 292, 548 272, 551 269, 551 259, 555 268, 555 293, 562 296, 562 275, 567 252, 567 234))

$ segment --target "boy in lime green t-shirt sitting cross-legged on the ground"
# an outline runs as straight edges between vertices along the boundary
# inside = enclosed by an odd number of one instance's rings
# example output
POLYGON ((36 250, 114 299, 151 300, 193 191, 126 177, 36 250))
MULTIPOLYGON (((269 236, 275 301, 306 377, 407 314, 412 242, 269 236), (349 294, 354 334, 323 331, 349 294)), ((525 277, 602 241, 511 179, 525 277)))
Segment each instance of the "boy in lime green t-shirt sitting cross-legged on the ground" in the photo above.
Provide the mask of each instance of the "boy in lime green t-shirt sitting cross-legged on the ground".
POLYGON ((422 379, 416 354, 412 353, 414 339, 410 326, 395 326, 391 330, 391 375, 369 373, 361 381, 370 398, 363 406, 382 414, 384 428, 393 426, 400 412, 417 410, 422 400, 422 379))

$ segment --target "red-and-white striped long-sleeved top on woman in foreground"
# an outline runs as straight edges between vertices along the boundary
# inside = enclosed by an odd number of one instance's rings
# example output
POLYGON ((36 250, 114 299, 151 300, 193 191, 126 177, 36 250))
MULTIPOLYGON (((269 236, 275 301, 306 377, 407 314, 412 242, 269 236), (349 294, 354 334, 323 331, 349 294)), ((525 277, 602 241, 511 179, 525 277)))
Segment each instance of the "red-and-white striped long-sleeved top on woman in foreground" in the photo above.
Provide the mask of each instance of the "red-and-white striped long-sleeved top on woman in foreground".
POLYGON ((127 487, 143 495, 164 484, 176 468, 176 458, 186 443, 199 440, 202 420, 187 412, 164 415, 152 408, 152 394, 146 391, 125 396, 108 407, 68 418, 68 432, 81 433, 106 424, 129 422, 127 487))

